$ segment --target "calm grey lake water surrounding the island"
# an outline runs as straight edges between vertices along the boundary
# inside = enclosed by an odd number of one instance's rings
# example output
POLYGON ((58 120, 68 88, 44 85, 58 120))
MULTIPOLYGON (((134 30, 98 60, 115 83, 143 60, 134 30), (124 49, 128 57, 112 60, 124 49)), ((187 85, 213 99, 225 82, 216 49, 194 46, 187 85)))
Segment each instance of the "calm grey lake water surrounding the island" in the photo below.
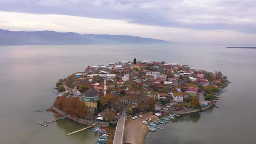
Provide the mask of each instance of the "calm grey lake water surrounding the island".
POLYGON ((207 71, 221 70, 233 82, 208 111, 177 119, 164 130, 148 133, 146 144, 253 144, 256 49, 226 46, 0 46, 0 143, 93 144, 95 133, 69 120, 43 128, 39 121, 58 116, 34 112, 49 108, 56 81, 87 65, 118 61, 178 62, 207 71))

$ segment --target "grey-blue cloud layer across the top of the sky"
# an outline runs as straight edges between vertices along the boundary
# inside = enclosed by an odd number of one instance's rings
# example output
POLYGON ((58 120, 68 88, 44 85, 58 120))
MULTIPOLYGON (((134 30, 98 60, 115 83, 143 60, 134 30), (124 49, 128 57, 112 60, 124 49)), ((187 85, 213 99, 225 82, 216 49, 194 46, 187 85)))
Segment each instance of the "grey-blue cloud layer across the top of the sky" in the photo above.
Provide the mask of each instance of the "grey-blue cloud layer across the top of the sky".
POLYGON ((255 0, 1 0, 0 10, 256 33, 255 0))

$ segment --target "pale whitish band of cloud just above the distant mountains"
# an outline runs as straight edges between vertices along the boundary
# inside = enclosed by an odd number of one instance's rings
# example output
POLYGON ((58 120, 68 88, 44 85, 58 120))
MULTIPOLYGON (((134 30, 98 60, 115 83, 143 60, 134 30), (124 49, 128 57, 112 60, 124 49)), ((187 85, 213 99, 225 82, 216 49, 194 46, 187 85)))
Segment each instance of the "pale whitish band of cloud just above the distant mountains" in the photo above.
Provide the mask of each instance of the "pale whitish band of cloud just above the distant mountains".
POLYGON ((85 18, 59 14, 0 11, 0 20, 1 29, 13 31, 53 30, 81 34, 120 34, 203 44, 255 44, 256 37, 256 34, 240 33, 234 30, 194 30, 141 25, 128 23, 127 20, 85 18))

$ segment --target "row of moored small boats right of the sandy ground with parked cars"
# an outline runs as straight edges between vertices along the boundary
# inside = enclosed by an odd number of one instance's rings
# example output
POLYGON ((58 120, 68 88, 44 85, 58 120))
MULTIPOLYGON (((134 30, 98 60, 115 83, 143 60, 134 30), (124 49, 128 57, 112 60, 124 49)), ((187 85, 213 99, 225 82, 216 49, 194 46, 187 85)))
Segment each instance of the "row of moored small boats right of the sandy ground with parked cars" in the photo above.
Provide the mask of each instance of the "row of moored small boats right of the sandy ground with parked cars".
MULTIPOLYGON (((169 121, 170 121, 171 119, 174 119, 175 116, 180 116, 180 115, 177 115, 177 114, 169 114, 169 115, 167 116, 167 118, 165 118, 165 117, 158 118, 158 121, 154 121, 154 123, 149 123, 150 125, 147 125, 148 131, 156 131, 156 128, 158 128, 157 125, 169 123, 169 121)), ((163 128, 160 128, 160 129, 163 129, 163 128)))

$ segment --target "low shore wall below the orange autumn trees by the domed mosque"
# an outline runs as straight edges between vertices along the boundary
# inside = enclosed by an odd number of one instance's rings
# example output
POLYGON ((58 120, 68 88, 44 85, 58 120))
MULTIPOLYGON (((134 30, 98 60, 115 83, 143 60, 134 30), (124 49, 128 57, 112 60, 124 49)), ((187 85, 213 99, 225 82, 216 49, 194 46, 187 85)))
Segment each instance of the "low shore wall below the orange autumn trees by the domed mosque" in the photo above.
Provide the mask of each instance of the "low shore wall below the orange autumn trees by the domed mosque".
MULTIPOLYGON (((54 106, 53 106, 53 110, 56 111, 57 113, 61 114, 61 115, 66 115, 66 113, 64 111, 61 111, 61 110, 59 110, 58 108, 56 108, 54 106)), ((93 124, 93 121, 85 120, 83 118, 78 118, 78 117, 72 117, 71 115, 68 115, 68 118, 72 119, 73 121, 79 122, 81 124, 87 124, 87 125, 92 125, 93 124)), ((95 125, 101 126, 101 127, 108 127, 109 122, 96 121, 95 125)))

